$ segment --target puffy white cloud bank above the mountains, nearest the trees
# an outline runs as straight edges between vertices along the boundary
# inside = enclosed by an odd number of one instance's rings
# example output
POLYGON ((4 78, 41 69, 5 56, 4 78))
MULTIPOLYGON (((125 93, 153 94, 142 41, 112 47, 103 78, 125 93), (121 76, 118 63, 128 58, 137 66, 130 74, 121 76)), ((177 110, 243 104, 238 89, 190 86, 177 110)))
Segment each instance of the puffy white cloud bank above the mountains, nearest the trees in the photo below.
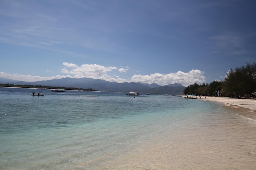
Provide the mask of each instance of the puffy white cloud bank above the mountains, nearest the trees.
POLYGON ((141 83, 156 83, 159 85, 168 85, 173 83, 179 83, 183 86, 188 86, 195 82, 201 84, 205 82, 204 72, 200 70, 191 70, 189 73, 178 71, 177 73, 160 74, 155 73, 151 75, 133 75, 130 79, 131 82, 141 83))

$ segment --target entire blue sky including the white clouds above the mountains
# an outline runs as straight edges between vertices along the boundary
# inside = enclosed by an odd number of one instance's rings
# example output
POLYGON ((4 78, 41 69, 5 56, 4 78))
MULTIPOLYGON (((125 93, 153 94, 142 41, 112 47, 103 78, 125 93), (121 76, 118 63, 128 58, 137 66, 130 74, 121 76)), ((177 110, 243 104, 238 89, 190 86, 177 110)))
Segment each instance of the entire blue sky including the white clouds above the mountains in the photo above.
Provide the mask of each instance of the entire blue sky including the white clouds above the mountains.
POLYGON ((0 77, 189 86, 256 62, 254 0, 0 0, 0 77))

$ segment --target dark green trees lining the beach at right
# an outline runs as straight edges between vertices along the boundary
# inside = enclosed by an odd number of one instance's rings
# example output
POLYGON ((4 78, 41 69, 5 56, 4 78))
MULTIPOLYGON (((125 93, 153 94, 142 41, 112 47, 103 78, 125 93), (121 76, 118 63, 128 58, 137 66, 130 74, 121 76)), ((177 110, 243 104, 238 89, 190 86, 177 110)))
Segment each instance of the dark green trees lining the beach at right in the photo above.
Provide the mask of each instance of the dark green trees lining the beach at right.
POLYGON ((183 93, 188 95, 250 96, 256 92, 256 63, 230 69, 222 81, 210 84, 190 84, 183 93))

